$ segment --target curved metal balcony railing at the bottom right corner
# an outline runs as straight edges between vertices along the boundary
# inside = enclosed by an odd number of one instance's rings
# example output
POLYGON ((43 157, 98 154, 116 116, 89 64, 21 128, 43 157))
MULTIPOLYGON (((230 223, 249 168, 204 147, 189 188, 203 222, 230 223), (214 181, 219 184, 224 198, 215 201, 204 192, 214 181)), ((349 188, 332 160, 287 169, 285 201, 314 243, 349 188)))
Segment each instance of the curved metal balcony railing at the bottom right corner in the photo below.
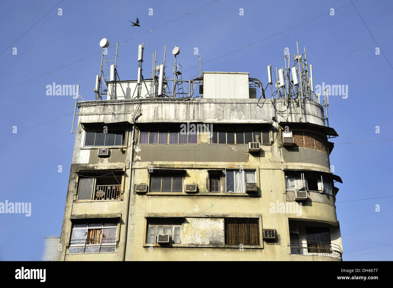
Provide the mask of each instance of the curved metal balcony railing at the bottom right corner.
POLYGON ((291 254, 327 256, 342 260, 342 249, 337 244, 322 241, 291 240, 291 254))

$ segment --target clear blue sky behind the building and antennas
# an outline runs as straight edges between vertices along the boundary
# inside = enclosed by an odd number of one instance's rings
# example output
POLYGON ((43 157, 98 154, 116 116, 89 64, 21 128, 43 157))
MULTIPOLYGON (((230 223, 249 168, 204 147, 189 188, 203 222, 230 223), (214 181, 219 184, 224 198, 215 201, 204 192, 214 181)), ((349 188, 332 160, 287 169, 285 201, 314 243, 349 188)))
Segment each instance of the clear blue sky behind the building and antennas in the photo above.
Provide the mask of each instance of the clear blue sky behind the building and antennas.
MULTIPOLYGON (((264 86, 266 66, 281 67, 283 49, 288 47, 294 54, 298 41, 301 51, 304 46, 307 49, 314 85, 348 85, 347 98, 329 99, 329 124, 340 135, 332 142, 393 138, 388 105, 393 69, 382 53, 376 55, 378 46, 351 0, 284 0, 279 5, 274 1, 63 0, 55 7, 59 2, 8 1, 2 2, 0 10, 0 52, 5 50, 0 54, 0 97, 4 104, 0 202, 31 202, 30 217, 0 214, 0 260, 40 260, 44 237, 60 236, 75 140, 70 133, 75 99, 48 96, 46 86, 53 82, 81 84, 79 94, 84 100, 94 100, 101 60, 99 41, 104 37, 110 40, 108 59, 114 58, 119 42, 121 80, 137 77, 138 44, 145 43, 145 78, 151 75, 152 53, 157 50, 157 62, 162 62, 165 45, 171 69, 171 50, 176 45, 180 47, 178 62, 184 79, 198 75, 198 67, 194 67, 198 66, 198 55, 194 55, 197 47, 204 63, 202 71, 249 72, 264 86), (61 16, 58 8, 62 9, 61 16), (152 16, 149 8, 153 9, 152 16), (331 8, 335 9, 334 16, 330 15, 331 8), (134 22, 136 17, 141 27, 130 26, 129 20, 134 22), (17 133, 13 133, 13 126, 17 126, 17 133), (380 133, 376 133, 376 126, 380 133), (62 173, 58 172, 59 165, 62 173)), ((354 5, 393 63, 393 2, 357 0, 354 5)), ((391 160, 392 141, 334 147, 331 164, 343 179, 343 184, 336 184, 340 188, 336 206, 346 261, 393 260, 393 198, 343 202, 391 196, 391 160), (376 205, 380 205, 379 212, 376 205)))

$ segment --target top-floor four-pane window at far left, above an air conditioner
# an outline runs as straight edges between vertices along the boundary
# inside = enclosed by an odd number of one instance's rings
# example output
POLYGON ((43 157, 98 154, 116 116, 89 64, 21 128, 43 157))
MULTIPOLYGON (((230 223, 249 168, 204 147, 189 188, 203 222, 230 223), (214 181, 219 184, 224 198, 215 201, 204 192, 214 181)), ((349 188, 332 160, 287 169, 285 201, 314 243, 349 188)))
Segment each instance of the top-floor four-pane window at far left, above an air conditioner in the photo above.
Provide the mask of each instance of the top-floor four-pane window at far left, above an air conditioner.
POLYGON ((125 129, 104 129, 86 131, 84 146, 124 146, 125 129))

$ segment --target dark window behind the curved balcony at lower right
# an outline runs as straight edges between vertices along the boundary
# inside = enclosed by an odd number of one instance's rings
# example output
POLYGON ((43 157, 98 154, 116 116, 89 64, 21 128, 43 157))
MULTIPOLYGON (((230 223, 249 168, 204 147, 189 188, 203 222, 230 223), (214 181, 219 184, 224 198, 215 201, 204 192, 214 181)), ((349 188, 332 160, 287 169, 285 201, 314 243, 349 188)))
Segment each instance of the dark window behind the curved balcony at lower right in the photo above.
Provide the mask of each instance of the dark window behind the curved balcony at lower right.
POLYGON ((328 227, 306 227, 309 253, 332 253, 328 227))

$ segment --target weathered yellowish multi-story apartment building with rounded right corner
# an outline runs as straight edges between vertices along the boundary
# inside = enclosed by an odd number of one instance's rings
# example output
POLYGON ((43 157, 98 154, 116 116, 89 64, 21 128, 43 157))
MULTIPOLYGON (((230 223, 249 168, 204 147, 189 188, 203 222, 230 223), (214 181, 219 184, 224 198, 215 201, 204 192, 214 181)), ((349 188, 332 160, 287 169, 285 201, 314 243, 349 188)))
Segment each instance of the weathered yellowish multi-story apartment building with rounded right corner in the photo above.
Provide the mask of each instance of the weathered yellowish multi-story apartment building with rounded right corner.
POLYGON ((152 75, 78 102, 60 261, 342 260, 319 97, 231 72, 165 93, 152 75))

